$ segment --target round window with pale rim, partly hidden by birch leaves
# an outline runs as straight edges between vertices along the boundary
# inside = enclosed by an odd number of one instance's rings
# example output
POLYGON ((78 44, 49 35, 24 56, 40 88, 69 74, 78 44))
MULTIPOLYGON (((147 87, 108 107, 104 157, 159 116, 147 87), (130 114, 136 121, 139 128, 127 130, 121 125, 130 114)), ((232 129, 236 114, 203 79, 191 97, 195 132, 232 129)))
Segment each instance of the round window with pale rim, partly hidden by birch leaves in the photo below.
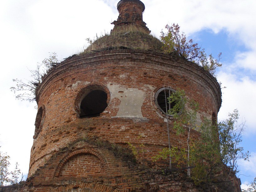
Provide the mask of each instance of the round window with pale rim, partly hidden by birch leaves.
MULTIPOLYGON (((157 91, 156 95, 155 95, 155 102, 157 105, 157 108, 163 113, 163 114, 168 114, 168 110, 172 109, 175 105, 175 102, 168 102, 168 97, 170 97, 170 95, 176 92, 174 89, 172 88, 168 88, 168 87, 164 87, 161 88, 157 91)), ((178 114, 181 114, 181 111, 178 111, 178 114)), ((169 115, 168 116, 173 116, 173 115, 169 115)))

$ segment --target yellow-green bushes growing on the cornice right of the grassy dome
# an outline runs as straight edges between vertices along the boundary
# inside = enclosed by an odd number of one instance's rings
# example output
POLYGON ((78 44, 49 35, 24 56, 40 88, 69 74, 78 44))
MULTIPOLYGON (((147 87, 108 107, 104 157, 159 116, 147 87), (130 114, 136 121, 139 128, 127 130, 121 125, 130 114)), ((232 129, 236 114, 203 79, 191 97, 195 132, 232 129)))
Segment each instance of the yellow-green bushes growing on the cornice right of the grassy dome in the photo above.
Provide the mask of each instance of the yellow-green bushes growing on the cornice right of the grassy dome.
POLYGON ((166 53, 176 53, 185 59, 195 62, 202 66, 206 71, 215 75, 216 67, 221 67, 221 53, 217 59, 212 54, 207 57, 205 50, 202 49, 192 39, 188 40, 185 33, 180 31, 178 24, 166 25, 167 32, 161 31, 160 39, 163 42, 163 51, 166 53))

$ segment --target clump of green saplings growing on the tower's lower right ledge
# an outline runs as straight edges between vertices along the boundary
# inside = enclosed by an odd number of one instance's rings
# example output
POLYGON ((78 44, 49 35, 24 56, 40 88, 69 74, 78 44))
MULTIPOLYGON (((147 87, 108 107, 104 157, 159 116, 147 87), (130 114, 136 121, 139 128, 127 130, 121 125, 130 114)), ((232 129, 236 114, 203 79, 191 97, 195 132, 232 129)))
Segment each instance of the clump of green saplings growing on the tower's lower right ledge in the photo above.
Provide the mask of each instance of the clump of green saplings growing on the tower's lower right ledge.
POLYGON ((221 121, 218 126, 206 118, 201 125, 196 125, 199 104, 188 99, 184 90, 173 92, 167 102, 174 103, 168 114, 173 116, 172 123, 176 134, 186 138, 187 147, 180 145, 172 146, 171 149, 163 148, 153 160, 170 157, 172 164, 177 168, 186 169, 187 176, 197 185, 225 181, 231 174, 237 173, 237 159, 248 160, 249 156, 248 152, 243 153, 243 147, 238 146, 242 141, 243 132, 243 124, 242 127, 236 125, 238 111, 234 110, 229 114, 229 118, 221 121), (200 132, 199 140, 190 138, 191 130, 200 132), (220 173, 227 168, 227 177, 224 178, 223 174, 221 177, 220 173))

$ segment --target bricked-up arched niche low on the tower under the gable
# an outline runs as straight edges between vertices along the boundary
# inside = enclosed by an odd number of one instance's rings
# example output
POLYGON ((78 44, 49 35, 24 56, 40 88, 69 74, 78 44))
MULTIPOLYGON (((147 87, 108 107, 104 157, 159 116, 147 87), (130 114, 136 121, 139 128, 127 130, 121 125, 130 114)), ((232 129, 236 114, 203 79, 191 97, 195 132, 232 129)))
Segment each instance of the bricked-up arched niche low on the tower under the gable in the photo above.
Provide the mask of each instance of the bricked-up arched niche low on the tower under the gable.
POLYGON ((77 150, 61 160, 54 177, 86 177, 102 174, 107 169, 106 161, 98 152, 77 150))

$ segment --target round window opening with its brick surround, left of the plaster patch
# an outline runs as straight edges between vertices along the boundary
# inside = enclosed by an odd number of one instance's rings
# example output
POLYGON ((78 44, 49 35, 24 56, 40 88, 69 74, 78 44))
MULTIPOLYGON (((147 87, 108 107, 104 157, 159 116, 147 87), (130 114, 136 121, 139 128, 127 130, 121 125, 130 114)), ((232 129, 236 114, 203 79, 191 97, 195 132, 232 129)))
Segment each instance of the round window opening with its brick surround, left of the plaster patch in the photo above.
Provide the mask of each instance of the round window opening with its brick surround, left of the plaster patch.
POLYGON ((104 85, 91 84, 82 88, 75 100, 75 111, 80 118, 99 116, 108 106, 109 90, 104 85))

